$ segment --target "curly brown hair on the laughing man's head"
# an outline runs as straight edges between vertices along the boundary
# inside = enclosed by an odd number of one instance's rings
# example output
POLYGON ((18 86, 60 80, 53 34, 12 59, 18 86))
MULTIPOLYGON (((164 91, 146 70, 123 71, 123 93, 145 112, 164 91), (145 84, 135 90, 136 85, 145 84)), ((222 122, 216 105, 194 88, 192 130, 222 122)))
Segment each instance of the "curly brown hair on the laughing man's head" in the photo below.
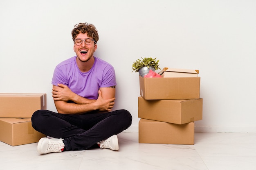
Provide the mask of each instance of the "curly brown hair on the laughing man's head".
POLYGON ((85 22, 76 24, 74 27, 75 28, 71 32, 73 41, 79 33, 87 33, 88 37, 92 37, 92 39, 94 39, 95 43, 97 44, 97 41, 99 40, 99 35, 94 25, 85 22))

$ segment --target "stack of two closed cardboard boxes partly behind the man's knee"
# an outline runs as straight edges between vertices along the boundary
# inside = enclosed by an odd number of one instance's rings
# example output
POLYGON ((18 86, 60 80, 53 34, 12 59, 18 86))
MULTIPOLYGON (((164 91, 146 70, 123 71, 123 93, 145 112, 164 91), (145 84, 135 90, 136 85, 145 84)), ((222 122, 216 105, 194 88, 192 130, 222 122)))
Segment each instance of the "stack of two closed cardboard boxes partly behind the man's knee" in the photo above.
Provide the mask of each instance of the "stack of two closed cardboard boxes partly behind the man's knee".
POLYGON ((46 137, 31 126, 39 109, 46 109, 46 94, 0 93, 0 141, 16 146, 46 137))

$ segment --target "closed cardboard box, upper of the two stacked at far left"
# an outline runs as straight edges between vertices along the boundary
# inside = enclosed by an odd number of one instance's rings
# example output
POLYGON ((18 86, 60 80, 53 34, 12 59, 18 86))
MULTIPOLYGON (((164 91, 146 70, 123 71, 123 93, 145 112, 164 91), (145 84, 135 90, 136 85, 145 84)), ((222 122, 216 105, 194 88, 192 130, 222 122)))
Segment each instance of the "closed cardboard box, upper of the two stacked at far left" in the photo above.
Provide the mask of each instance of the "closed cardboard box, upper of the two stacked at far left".
POLYGON ((46 94, 0 93, 0 118, 31 118, 46 109, 46 94))

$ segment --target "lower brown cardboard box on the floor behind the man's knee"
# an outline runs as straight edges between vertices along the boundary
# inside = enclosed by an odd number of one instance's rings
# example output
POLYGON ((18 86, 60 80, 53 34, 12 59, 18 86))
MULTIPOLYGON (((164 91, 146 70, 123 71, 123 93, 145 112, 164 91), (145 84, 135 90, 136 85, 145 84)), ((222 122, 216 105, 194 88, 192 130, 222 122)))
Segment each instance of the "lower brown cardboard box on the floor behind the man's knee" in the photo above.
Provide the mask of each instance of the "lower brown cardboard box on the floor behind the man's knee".
POLYGON ((0 118, 0 141, 11 146, 38 142, 46 135, 36 131, 29 118, 0 118))

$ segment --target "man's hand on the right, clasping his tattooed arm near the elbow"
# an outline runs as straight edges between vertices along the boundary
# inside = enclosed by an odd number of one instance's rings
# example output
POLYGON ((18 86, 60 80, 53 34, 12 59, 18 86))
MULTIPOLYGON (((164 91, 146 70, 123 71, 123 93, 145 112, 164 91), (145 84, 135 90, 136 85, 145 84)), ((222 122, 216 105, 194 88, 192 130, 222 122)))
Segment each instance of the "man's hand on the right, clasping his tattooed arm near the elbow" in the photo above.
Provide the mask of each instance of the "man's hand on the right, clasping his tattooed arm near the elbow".
POLYGON ((103 99, 101 95, 101 91, 98 91, 99 97, 95 102, 95 105, 98 106, 99 111, 111 111, 111 109, 114 107, 114 100, 116 98, 110 98, 110 99, 103 99))

